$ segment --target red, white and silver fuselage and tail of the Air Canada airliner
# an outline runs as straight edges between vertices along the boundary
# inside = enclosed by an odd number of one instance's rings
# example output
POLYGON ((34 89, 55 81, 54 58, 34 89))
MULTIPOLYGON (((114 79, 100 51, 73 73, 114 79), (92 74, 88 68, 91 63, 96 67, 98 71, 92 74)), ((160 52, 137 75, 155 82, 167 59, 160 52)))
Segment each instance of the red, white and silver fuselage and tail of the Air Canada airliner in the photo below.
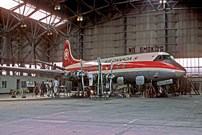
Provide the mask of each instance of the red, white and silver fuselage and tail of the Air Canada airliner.
MULTIPOLYGON (((179 78, 185 75, 186 70, 166 52, 152 52, 132 54, 102 59, 102 71, 110 73, 113 62, 113 74, 123 77, 127 82, 135 82, 137 76, 144 76, 146 81, 160 81, 179 78)), ((98 62, 83 61, 83 71, 98 72, 98 62)), ((64 47, 63 67, 66 71, 79 71, 80 60, 74 59, 70 43, 67 40, 64 47)))

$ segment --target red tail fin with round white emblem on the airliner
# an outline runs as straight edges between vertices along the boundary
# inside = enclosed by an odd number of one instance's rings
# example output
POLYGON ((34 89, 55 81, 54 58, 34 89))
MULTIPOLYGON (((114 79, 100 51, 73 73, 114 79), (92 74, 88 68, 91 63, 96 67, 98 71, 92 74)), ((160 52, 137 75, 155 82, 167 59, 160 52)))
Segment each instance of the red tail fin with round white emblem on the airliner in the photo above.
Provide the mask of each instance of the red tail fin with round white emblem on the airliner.
POLYGON ((65 42, 65 47, 64 47, 64 53, 63 53, 63 67, 75 64, 75 63, 79 63, 79 60, 74 59, 74 57, 72 56, 71 53, 71 48, 70 48, 70 44, 69 41, 66 40, 65 42))

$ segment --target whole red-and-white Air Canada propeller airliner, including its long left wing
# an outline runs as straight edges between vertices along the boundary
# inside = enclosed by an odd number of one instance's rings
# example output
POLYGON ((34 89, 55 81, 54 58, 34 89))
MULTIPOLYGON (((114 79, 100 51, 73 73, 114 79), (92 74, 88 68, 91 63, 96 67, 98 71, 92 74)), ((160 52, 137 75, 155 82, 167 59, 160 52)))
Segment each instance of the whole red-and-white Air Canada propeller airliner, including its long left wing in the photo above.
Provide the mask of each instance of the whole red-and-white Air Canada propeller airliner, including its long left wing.
MULTIPOLYGON (((115 78, 117 78, 117 82, 121 82, 120 84, 123 84, 124 82, 139 84, 138 80, 145 83, 150 82, 151 80, 157 82, 161 80, 177 79, 186 74, 185 68, 166 52, 150 52, 104 58, 101 59, 101 63, 102 72, 110 75, 113 71, 115 78)), ((77 80, 79 78, 83 79, 83 76, 81 75, 83 72, 92 71, 97 74, 98 62, 97 60, 81 61, 75 59, 71 53, 70 43, 66 40, 64 45, 63 67, 59 69, 63 70, 0 66, 0 70, 54 73, 62 75, 63 78, 66 78, 67 80, 77 80)))

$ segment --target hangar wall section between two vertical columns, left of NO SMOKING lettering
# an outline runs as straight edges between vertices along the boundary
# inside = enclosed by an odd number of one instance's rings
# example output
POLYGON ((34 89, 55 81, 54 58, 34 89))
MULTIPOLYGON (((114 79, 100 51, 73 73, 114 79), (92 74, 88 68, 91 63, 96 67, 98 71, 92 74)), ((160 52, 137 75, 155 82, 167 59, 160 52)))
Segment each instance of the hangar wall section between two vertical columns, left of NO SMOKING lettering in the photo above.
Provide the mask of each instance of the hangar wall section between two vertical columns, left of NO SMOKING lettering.
POLYGON ((84 59, 124 55, 123 18, 86 28, 83 34, 84 59))

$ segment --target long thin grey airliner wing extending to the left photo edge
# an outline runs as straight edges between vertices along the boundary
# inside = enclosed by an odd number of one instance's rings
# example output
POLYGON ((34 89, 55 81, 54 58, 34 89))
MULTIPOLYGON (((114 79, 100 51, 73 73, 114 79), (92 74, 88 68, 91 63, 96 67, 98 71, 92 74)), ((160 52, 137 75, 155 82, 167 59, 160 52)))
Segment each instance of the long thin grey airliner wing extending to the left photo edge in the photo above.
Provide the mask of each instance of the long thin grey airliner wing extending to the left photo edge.
POLYGON ((0 70, 16 71, 32 74, 52 74, 52 75, 63 75, 66 73, 66 71, 59 71, 59 70, 32 69, 32 68, 9 67, 9 66, 0 66, 0 70))

